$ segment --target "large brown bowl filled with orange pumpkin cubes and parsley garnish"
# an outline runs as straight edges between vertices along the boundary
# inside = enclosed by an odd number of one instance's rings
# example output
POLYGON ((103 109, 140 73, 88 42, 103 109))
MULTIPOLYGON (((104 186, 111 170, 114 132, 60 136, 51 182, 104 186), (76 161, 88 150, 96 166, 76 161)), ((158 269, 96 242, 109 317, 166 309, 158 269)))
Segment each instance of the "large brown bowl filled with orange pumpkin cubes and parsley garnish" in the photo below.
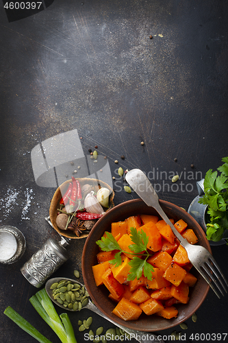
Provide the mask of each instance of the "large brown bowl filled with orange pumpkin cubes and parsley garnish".
MULTIPOLYGON (((190 244, 211 252, 186 211, 163 200, 160 205, 190 244)), ((170 226, 141 199, 118 204, 94 225, 81 267, 95 305, 116 324, 139 331, 175 327, 197 311, 209 290, 170 226)))

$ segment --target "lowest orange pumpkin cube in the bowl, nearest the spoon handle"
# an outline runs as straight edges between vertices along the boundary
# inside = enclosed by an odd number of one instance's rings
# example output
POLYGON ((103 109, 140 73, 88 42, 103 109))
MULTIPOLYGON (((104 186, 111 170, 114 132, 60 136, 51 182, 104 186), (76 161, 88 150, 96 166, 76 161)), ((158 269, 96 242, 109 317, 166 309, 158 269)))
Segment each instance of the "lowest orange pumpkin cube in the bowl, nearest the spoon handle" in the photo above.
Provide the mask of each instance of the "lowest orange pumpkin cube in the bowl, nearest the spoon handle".
POLYGON ((142 313, 142 309, 140 309, 137 304, 131 303, 131 301, 129 301, 128 299, 122 298, 118 302, 112 313, 118 316, 118 318, 121 318, 125 321, 137 320, 142 313))

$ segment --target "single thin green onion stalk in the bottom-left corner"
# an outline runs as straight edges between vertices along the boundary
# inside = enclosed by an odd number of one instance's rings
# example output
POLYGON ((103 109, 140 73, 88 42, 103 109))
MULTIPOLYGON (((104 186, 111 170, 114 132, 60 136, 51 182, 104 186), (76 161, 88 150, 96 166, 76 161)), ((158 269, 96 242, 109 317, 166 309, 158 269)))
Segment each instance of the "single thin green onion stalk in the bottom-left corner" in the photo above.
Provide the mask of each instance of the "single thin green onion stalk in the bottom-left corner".
POLYGON ((27 320, 21 317, 12 307, 6 307, 3 312, 8 316, 13 322, 15 322, 18 327, 21 327, 25 332, 29 333, 32 337, 36 338, 40 343, 51 343, 45 336, 43 336, 38 330, 36 330, 27 320))

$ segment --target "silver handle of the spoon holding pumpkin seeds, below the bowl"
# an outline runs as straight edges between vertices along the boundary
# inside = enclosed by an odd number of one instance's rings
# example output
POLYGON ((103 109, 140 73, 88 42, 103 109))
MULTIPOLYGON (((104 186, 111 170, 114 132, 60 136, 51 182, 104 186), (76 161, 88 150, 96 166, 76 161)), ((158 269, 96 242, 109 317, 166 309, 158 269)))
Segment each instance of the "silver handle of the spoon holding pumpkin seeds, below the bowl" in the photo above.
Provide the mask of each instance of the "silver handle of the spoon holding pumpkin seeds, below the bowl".
MULTIPOLYGON (((109 322, 112 322, 112 324, 116 325, 116 327, 119 327, 120 329, 123 329, 126 333, 129 333, 130 338, 134 338, 137 342, 140 343, 164 343, 164 340, 159 340, 157 335, 154 335, 151 332, 143 332, 138 330, 131 330, 127 327, 122 326, 121 324, 117 324, 112 320, 111 318, 105 316, 96 305, 94 305, 91 301, 89 301, 88 305, 85 306, 86 309, 90 309, 90 311, 93 311, 95 314, 98 314, 99 316, 105 318, 109 322)), ((85 308, 84 307, 84 308, 85 308)))

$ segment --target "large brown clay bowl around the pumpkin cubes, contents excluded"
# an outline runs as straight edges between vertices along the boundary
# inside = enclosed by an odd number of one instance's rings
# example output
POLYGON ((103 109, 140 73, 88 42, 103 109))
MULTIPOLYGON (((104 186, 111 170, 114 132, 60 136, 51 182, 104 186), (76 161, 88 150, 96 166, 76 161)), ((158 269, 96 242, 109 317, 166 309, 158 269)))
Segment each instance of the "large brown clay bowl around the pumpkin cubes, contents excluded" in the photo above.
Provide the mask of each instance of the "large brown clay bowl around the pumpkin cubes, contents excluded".
MULTIPOLYGON (((198 244, 204 246, 211 252, 210 244, 205 237, 205 233, 191 215, 170 202, 160 200, 160 204, 166 215, 173 218, 175 222, 179 219, 183 219, 188 224, 188 228, 192 228, 194 230, 194 233, 199 239, 198 244)), ((115 206, 112 210, 108 211, 108 213, 105 214, 97 224, 94 225, 86 239, 86 244, 82 254, 81 268, 84 283, 95 305, 97 305, 97 307, 108 318, 114 320, 116 324, 121 324, 129 329, 136 329, 139 331, 160 331, 169 329, 190 318, 190 316, 192 316, 192 314, 194 314, 194 312, 201 306, 203 300, 205 300, 205 297, 207 296, 210 286, 207 285, 205 280, 199 275, 197 270, 194 270, 194 268, 191 269, 191 272, 197 276, 198 280, 194 287, 190 287, 190 300, 186 305, 176 305, 179 314, 177 318, 172 318, 170 320, 155 315, 146 316, 142 313, 138 320, 125 322, 112 314, 112 310, 116 306, 116 303, 113 303, 113 301, 107 297, 109 292, 106 287, 104 285, 97 287, 94 282, 92 265, 97 264, 96 255, 99 252, 96 241, 101 239, 101 236, 106 230, 111 230, 112 222, 123 221, 129 216, 137 214, 157 215, 157 212, 152 207, 147 206, 147 204, 145 204, 141 199, 129 200, 115 206)))

